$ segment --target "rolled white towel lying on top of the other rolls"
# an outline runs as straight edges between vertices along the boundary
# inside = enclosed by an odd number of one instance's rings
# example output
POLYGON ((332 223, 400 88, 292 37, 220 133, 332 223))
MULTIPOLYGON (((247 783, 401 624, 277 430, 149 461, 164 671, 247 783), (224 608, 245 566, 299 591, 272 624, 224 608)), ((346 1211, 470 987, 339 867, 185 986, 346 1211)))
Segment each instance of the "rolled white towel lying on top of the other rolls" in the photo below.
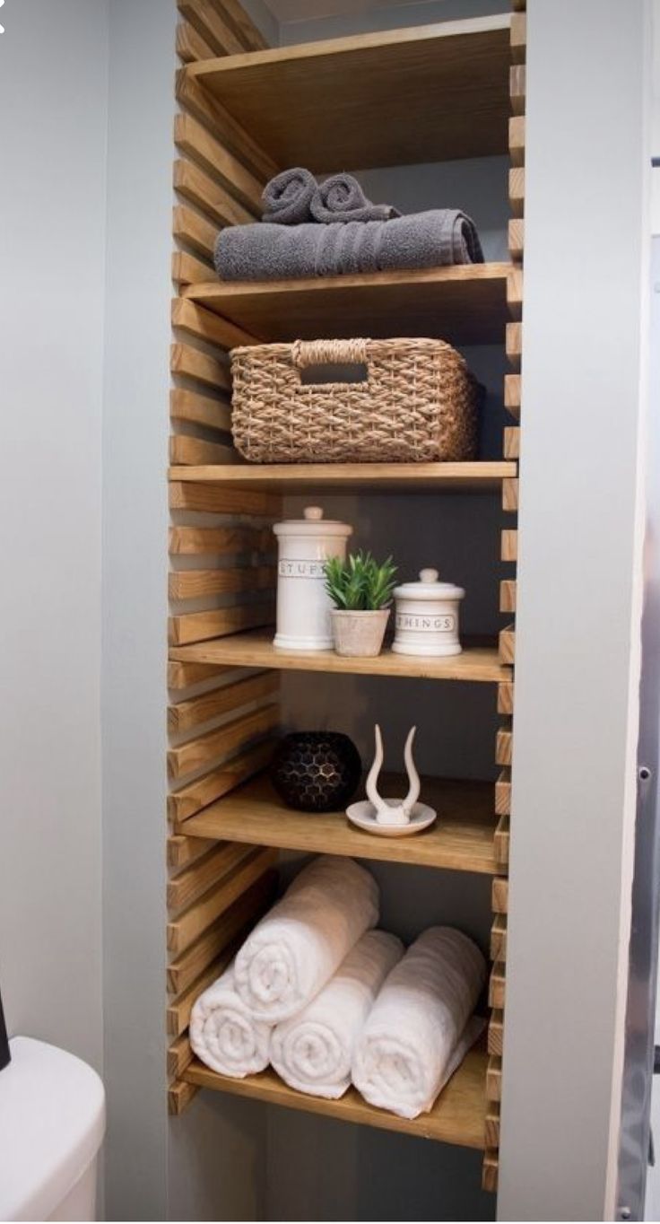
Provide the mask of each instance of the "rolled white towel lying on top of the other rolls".
POLYGON ((351 858, 321 854, 248 935, 236 989, 257 1020, 288 1020, 321 990, 378 922, 374 878, 351 858))

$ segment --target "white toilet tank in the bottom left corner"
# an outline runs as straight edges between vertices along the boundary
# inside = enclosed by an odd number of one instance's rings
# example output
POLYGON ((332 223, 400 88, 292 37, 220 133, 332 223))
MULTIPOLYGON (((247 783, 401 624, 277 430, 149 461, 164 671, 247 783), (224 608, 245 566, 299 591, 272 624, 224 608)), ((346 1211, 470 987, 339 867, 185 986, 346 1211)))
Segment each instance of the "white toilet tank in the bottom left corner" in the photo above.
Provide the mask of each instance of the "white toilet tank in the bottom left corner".
POLYGON ((0 1071, 0 1220, 94 1220, 105 1093, 81 1059, 31 1037, 0 1071))

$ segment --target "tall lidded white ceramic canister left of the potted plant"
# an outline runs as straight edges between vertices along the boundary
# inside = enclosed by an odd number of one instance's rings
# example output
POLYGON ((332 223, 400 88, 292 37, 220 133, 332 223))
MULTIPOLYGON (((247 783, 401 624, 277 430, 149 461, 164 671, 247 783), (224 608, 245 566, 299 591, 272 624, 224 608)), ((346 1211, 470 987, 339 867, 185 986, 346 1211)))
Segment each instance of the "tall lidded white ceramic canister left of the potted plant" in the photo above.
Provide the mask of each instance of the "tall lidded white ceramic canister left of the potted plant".
POLYGON ((319 506, 307 506, 303 519, 286 519, 273 528, 277 536, 279 650, 330 650, 332 601, 325 590, 324 563, 346 556, 353 529, 323 518, 319 506))

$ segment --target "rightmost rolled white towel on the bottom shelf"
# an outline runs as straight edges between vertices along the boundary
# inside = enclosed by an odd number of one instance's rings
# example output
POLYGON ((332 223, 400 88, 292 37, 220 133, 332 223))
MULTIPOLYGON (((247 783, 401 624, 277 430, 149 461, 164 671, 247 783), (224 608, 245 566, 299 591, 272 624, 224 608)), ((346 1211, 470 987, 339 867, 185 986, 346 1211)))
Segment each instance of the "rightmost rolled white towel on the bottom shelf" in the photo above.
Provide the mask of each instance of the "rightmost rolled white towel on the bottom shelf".
POLYGON ((485 961, 467 935, 429 927, 389 974, 356 1048, 352 1078, 372 1105, 400 1118, 429 1110, 477 1039, 468 1023, 485 961))

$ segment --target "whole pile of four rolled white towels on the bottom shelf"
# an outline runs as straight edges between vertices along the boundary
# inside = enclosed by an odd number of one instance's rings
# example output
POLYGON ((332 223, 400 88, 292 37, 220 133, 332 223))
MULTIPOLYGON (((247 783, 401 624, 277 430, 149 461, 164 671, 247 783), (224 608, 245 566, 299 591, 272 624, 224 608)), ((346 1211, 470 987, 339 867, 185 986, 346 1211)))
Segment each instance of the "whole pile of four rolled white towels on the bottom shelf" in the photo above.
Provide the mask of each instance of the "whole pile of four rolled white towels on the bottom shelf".
POLYGON ((352 1082, 401 1118, 431 1109, 484 1027, 473 1011, 485 961, 449 927, 405 951, 378 918, 365 868, 314 859, 197 999, 196 1054, 237 1078, 270 1062, 292 1088, 330 1099, 352 1082))

